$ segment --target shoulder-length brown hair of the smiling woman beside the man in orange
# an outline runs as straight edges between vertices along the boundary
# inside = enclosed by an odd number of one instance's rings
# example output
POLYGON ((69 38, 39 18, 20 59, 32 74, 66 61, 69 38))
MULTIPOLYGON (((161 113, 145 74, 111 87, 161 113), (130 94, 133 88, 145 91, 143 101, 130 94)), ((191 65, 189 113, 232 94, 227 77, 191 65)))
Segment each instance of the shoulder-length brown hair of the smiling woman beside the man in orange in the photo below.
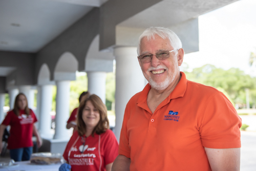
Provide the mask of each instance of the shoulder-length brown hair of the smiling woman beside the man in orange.
POLYGON ((94 127, 92 136, 94 136, 94 133, 100 135, 104 133, 106 130, 108 130, 110 127, 109 119, 108 119, 108 116, 106 115, 107 109, 105 104, 102 102, 99 96, 92 94, 87 99, 83 100, 80 103, 78 108, 76 122, 77 122, 77 131, 79 136, 83 136, 84 134, 86 134, 86 123, 84 123, 82 119, 82 113, 88 101, 91 101, 94 108, 96 108, 99 111, 99 115, 100 115, 100 120, 98 124, 94 127))

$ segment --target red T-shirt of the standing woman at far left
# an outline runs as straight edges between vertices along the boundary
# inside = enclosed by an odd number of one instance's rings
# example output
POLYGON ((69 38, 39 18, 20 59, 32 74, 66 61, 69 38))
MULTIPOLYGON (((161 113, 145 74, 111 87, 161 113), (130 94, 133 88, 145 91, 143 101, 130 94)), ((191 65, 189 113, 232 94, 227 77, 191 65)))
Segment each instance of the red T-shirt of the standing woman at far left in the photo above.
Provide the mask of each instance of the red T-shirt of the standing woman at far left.
POLYGON ((32 110, 28 116, 24 110, 20 110, 19 114, 16 116, 13 111, 10 111, 2 122, 4 125, 11 126, 8 149, 33 146, 32 134, 33 124, 37 121, 36 116, 32 110))

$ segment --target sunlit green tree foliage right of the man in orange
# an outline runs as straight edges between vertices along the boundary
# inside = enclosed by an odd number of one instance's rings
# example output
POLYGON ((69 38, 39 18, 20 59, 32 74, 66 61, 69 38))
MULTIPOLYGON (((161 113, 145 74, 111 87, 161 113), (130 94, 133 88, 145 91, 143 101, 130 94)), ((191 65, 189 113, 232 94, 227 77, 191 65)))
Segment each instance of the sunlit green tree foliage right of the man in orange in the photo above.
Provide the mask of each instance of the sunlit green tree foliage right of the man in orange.
POLYGON ((212 65, 204 65, 192 72, 185 72, 188 80, 199 82, 207 86, 222 88, 234 103, 244 104, 245 89, 250 90, 251 102, 255 103, 256 78, 245 74, 238 68, 223 70, 212 65))

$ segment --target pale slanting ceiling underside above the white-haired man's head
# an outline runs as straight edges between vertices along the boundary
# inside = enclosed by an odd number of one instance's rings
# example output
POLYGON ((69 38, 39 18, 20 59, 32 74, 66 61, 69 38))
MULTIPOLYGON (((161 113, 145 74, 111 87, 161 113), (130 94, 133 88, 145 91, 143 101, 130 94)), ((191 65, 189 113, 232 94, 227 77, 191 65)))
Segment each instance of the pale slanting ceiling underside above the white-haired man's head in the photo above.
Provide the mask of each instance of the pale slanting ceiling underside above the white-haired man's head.
POLYGON ((118 24, 120 27, 170 27, 238 0, 163 0, 118 24))

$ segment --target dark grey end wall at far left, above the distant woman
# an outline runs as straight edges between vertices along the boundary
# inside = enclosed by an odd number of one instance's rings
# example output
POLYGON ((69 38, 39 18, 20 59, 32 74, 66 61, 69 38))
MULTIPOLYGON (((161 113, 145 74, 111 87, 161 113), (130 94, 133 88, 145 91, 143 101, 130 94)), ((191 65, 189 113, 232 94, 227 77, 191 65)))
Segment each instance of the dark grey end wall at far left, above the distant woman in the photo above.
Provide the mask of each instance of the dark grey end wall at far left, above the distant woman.
MULTIPOLYGON (((36 84, 35 71, 35 54, 22 52, 0 51, 1 67, 15 67, 16 70, 10 74, 15 78, 15 85, 34 85, 36 84)), ((8 76, 9 77, 9 76, 8 76)), ((10 80, 7 78, 7 81, 10 80)))

